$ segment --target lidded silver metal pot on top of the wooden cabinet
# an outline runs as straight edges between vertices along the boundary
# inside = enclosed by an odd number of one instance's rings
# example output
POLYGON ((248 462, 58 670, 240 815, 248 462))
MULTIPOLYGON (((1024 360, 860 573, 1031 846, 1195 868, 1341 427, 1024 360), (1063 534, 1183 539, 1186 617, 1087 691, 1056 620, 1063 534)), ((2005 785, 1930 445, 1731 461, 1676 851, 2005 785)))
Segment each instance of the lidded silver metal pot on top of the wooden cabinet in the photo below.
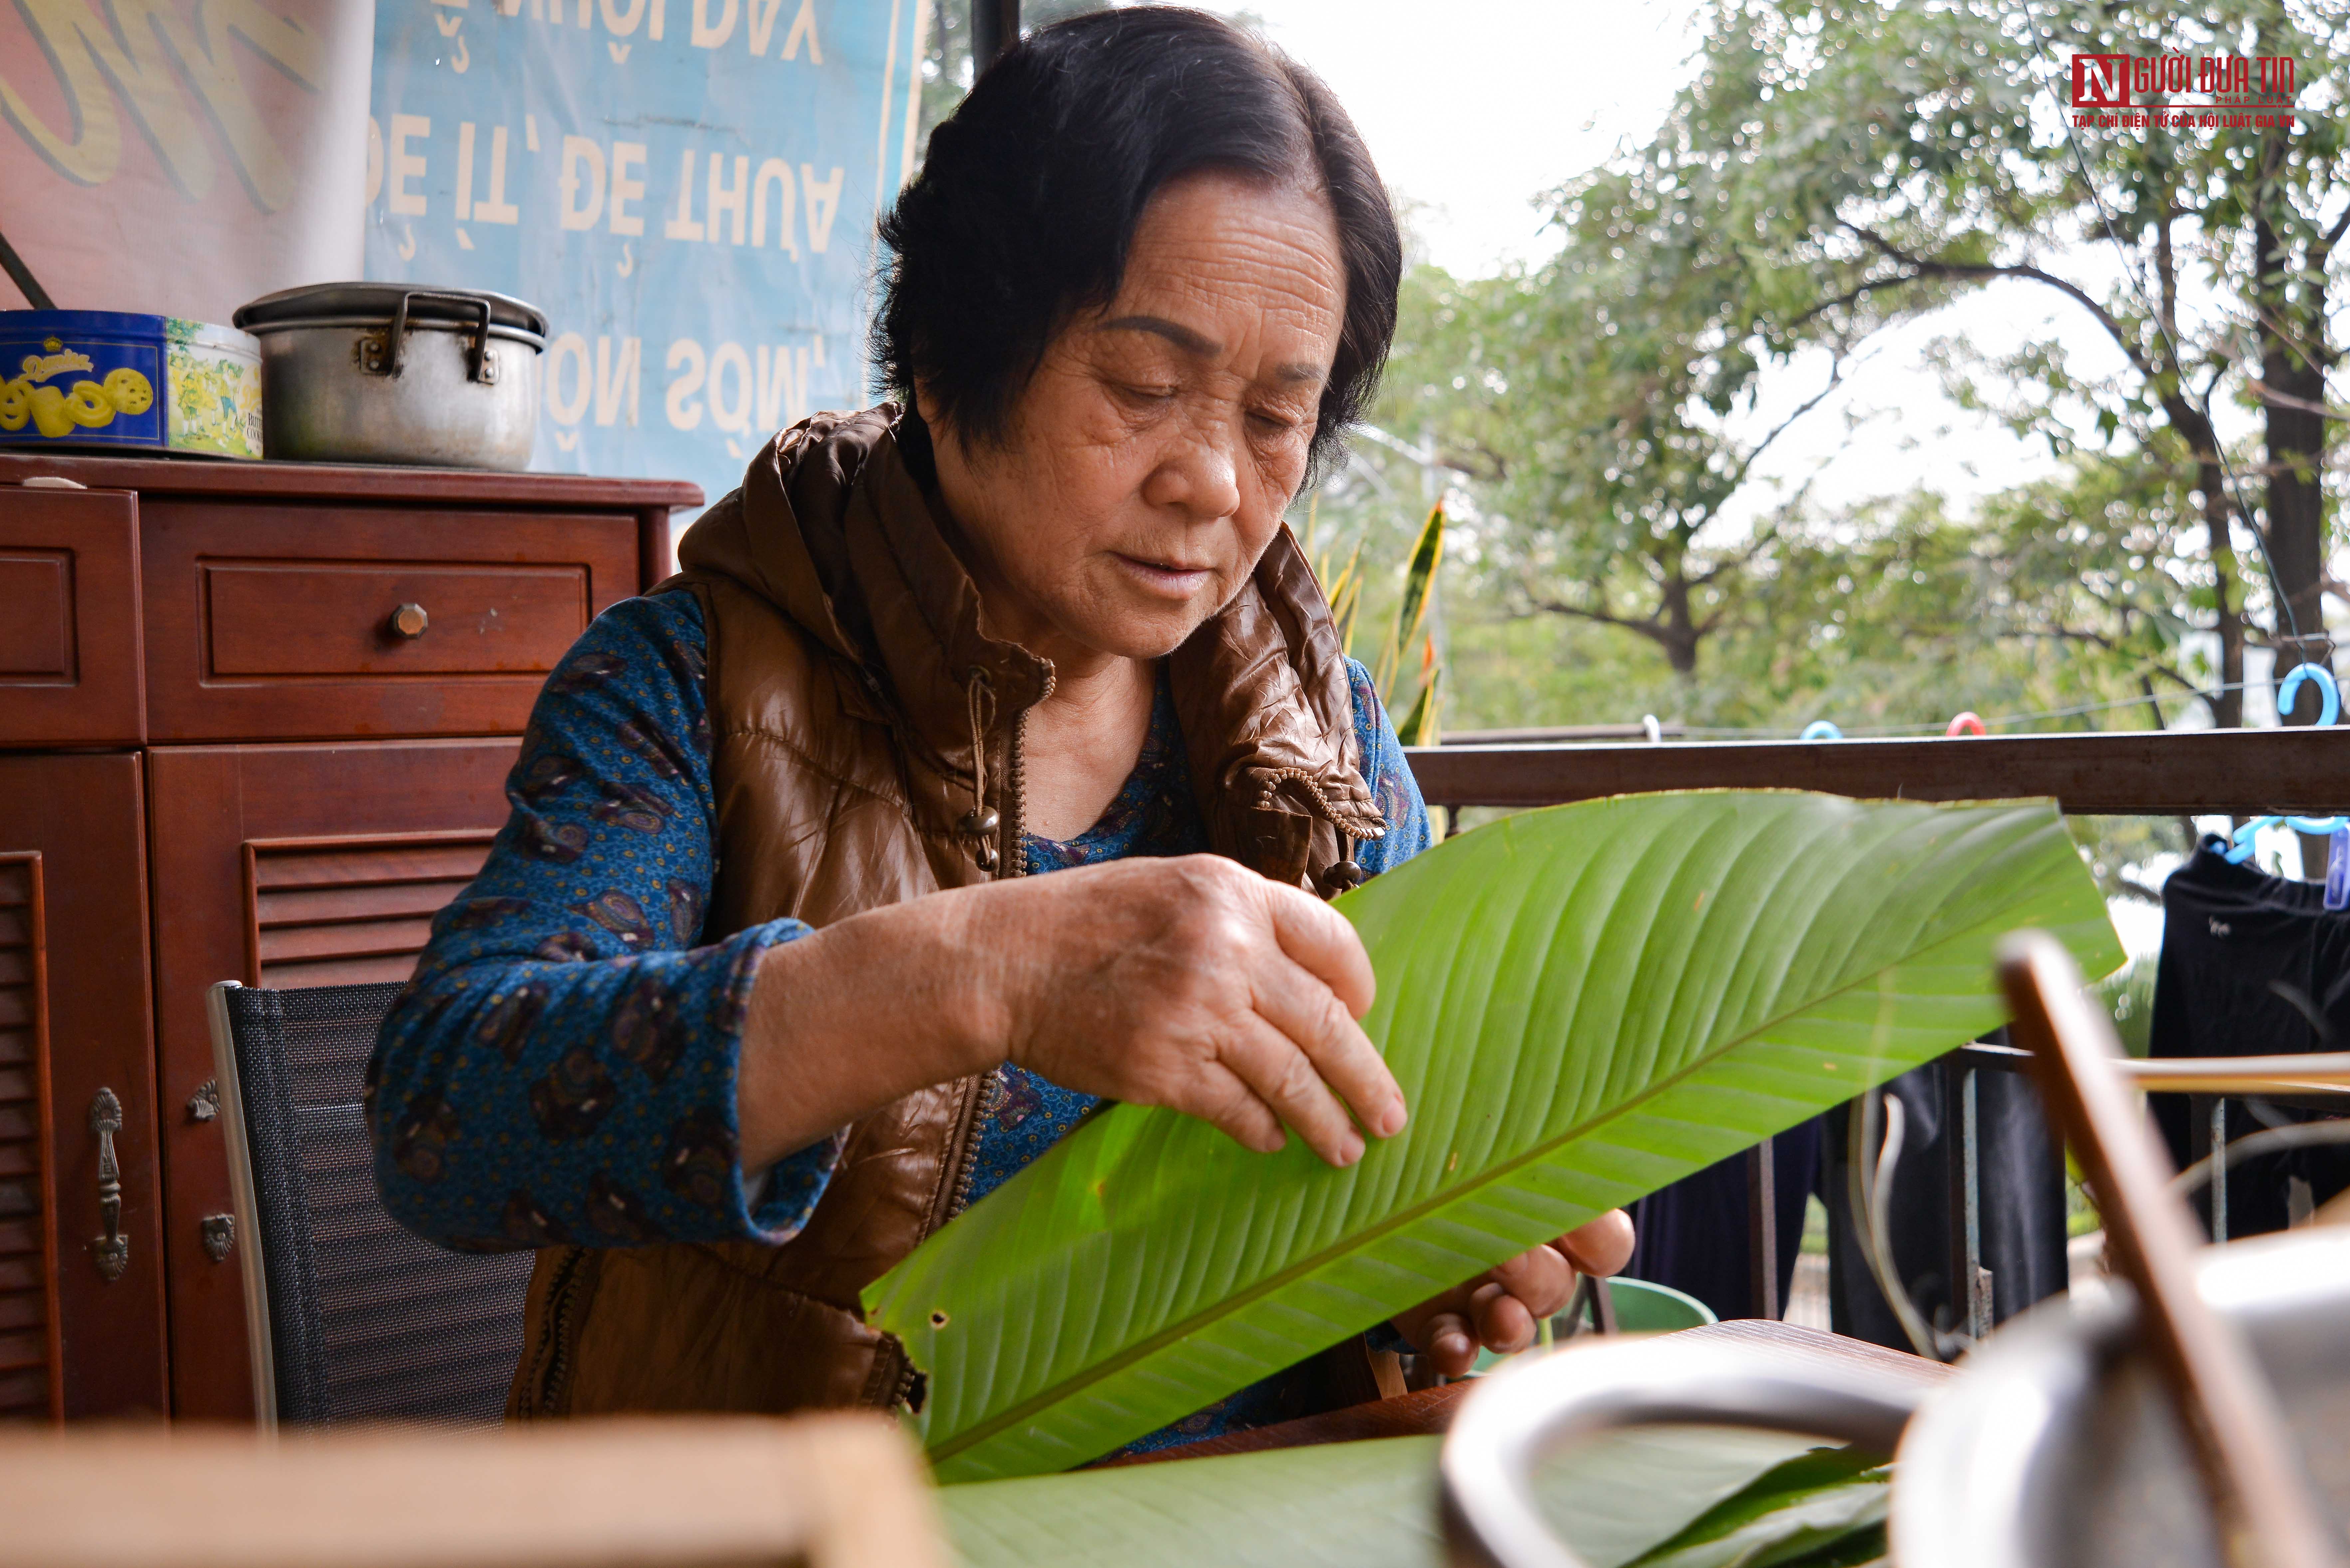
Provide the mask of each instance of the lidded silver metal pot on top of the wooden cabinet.
POLYGON ((486 289, 324 282, 263 294, 263 440, 313 463, 531 465, 548 317, 486 289))

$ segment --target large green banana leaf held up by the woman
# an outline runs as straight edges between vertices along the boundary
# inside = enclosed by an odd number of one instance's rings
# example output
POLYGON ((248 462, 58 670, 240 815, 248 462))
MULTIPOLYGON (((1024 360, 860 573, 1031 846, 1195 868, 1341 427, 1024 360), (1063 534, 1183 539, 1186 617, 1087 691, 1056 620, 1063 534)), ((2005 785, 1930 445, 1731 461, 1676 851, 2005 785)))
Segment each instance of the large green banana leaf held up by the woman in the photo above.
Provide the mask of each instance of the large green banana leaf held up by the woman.
POLYGON ((865 1291, 942 1481, 1067 1469, 1995 1027, 1993 940, 2122 952, 2047 802, 1638 795, 1344 896, 1412 1107, 1349 1171, 1121 1105, 865 1291))

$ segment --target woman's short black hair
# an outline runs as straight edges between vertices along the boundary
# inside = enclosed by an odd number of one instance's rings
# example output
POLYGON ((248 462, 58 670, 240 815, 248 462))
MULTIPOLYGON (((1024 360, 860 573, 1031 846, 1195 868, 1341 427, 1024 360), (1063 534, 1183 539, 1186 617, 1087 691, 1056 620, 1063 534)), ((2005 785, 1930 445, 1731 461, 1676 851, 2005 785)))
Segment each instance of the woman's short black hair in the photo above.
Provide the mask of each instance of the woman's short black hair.
POLYGON ((1001 440, 1062 324, 1116 296, 1152 195, 1198 169, 1316 183, 1337 216, 1347 313, 1309 461, 1328 473, 1396 336, 1396 214, 1330 87, 1208 12, 1039 28, 931 132, 921 174, 881 219, 884 390, 912 402, 921 383, 956 435, 1001 440))

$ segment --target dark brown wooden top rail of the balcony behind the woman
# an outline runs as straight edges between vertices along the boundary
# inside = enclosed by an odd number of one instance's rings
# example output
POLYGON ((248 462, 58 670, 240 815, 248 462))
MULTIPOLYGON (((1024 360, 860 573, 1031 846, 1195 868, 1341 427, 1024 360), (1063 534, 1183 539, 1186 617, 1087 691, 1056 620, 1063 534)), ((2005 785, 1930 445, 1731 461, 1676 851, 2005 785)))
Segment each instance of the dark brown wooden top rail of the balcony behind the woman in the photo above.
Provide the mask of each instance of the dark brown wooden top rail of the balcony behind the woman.
POLYGON ((1932 802, 2054 797, 2075 816, 2331 816, 2350 806, 2350 729, 1441 745, 1405 757, 1419 792, 1438 806, 1549 806, 1716 788, 1932 802))

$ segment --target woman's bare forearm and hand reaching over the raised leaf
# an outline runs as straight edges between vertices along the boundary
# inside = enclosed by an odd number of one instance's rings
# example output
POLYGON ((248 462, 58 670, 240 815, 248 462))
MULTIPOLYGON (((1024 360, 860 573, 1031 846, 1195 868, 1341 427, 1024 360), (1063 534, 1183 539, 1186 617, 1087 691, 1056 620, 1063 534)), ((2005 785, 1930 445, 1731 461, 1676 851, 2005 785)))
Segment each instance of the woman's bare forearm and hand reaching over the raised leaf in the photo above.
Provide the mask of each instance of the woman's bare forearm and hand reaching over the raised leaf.
POLYGON ((759 964, 736 1081, 743 1166, 1003 1060, 1201 1117, 1253 1150, 1290 1128, 1347 1166, 1363 1131, 1389 1138, 1405 1119, 1356 1023, 1372 987, 1344 917, 1220 856, 867 910, 759 964))

